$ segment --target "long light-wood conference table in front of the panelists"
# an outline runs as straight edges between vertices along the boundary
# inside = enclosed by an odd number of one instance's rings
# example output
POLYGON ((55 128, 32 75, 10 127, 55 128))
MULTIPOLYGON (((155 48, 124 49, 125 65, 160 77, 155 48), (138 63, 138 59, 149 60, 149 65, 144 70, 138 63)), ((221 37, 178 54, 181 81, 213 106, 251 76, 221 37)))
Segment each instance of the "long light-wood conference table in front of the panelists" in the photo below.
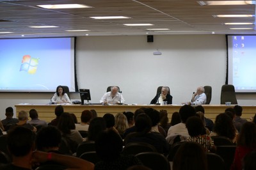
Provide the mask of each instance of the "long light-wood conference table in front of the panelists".
MULTIPOLYGON (((40 120, 45 120, 50 122, 56 115, 54 114, 54 109, 57 104, 17 104, 16 115, 18 116, 19 111, 27 111, 30 109, 36 109, 38 112, 38 117, 40 120)), ((141 107, 152 107, 157 111, 166 110, 168 112, 169 120, 172 118, 173 112, 179 112, 182 105, 75 105, 75 104, 64 104, 62 105, 64 112, 74 113, 77 116, 78 122, 80 122, 81 112, 84 110, 94 109, 99 117, 102 117, 106 113, 111 113, 114 116, 118 112, 134 112, 136 109, 141 107)), ((234 105, 202 105, 205 109, 205 117, 210 118, 212 121, 215 120, 216 116, 225 111, 228 107, 234 107, 234 105)), ((242 105, 243 115, 242 118, 250 120, 256 113, 256 105, 242 105)))

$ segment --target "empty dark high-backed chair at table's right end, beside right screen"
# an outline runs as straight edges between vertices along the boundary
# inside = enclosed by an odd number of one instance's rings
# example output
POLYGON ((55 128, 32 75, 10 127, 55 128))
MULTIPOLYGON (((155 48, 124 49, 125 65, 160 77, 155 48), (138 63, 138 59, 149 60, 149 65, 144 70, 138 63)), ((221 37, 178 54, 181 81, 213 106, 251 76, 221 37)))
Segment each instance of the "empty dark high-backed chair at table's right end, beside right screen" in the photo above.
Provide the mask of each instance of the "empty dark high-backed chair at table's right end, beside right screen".
POLYGON ((225 84, 221 87, 220 104, 231 102, 237 104, 235 88, 232 84, 225 84))

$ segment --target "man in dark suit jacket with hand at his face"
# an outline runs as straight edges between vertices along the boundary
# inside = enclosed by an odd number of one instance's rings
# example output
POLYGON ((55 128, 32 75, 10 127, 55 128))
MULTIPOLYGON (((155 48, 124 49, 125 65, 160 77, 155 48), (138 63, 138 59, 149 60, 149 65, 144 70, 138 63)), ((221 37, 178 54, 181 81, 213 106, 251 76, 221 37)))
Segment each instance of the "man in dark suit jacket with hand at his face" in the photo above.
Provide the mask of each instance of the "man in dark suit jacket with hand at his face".
POLYGON ((172 104, 172 96, 168 93, 169 88, 167 86, 163 86, 161 89, 161 93, 157 93, 156 97, 154 97, 150 104, 161 104, 163 102, 167 102, 167 104, 172 104))

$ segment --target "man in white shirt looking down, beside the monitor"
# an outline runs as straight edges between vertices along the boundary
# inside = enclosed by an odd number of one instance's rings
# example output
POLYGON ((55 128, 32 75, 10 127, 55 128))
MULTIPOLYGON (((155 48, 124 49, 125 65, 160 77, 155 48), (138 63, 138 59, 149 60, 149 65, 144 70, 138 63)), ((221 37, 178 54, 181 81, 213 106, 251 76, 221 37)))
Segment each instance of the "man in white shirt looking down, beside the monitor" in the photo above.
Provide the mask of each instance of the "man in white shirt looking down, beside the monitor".
POLYGON ((100 99, 102 105, 106 104, 124 104, 125 100, 121 93, 119 93, 119 88, 116 86, 111 87, 111 91, 105 93, 100 99))

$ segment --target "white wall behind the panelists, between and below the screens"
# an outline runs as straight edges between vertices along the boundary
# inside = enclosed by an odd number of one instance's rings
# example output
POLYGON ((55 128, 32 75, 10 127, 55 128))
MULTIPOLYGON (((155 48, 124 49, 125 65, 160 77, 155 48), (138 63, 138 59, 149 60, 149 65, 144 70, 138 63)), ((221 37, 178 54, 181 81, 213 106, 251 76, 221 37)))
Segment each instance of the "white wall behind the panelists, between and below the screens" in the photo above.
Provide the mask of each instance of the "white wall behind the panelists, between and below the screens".
MULTIPOLYGON (((149 104, 158 86, 169 86, 173 104, 191 99, 198 86, 212 86, 211 104, 220 104, 225 84, 225 35, 83 36, 77 38, 77 82, 98 103, 108 86, 122 90, 126 104, 149 104), (161 56, 154 56, 159 49, 161 56)), ((53 78, 52 78, 53 79, 53 78)), ((47 104, 51 93, 1 93, 0 118, 15 104, 47 104)), ((79 100, 77 93, 72 100, 79 100)), ((255 95, 237 95, 240 105, 253 105, 255 95)))

